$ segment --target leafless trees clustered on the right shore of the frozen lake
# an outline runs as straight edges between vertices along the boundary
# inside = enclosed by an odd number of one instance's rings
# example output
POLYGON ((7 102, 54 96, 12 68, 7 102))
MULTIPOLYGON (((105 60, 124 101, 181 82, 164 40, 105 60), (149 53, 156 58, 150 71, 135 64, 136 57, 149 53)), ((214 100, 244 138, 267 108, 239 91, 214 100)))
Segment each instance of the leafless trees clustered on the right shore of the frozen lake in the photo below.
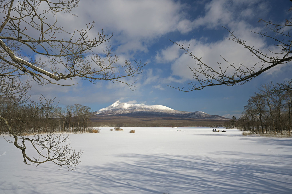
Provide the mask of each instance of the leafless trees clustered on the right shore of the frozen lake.
POLYGON ((248 99, 238 127, 254 133, 291 135, 292 90, 291 82, 263 84, 248 99), (288 89, 287 89, 288 88, 288 89))

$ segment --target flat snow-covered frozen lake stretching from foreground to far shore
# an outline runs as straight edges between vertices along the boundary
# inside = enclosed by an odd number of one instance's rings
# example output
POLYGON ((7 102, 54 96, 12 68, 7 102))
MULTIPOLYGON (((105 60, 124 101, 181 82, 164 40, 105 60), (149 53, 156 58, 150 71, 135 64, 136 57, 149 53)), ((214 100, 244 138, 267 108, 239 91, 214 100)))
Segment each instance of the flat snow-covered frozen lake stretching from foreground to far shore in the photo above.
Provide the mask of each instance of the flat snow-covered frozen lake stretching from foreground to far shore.
POLYGON ((72 147, 84 150, 75 172, 25 165, 1 136, 0 193, 292 193, 292 138, 236 129, 109 129, 69 135, 72 147))

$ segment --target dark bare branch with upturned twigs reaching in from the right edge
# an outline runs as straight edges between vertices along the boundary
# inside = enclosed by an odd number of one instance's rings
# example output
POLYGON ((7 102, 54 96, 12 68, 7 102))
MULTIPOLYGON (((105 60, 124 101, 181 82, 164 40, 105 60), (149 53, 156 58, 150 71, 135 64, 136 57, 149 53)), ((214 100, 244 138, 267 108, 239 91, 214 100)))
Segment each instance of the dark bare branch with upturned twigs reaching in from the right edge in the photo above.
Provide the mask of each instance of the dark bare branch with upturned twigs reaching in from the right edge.
MULTIPOLYGON (((208 86, 241 85, 252 80, 272 67, 290 62, 292 60, 292 36, 290 33, 292 20, 285 20, 283 24, 275 24, 271 21, 262 19, 260 19, 260 22, 263 22, 267 26, 267 32, 261 31, 253 33, 275 42, 275 50, 269 50, 268 53, 265 53, 252 45, 248 45, 246 40, 236 36, 234 31, 230 31, 225 28, 230 33, 230 38, 227 39, 232 40, 246 48, 251 53, 251 56, 255 57, 255 59, 258 59, 256 64, 245 65, 242 63, 236 65, 221 55, 225 64, 217 62, 217 68, 213 68, 213 64, 206 64, 204 61, 202 61, 201 57, 197 56, 196 53, 190 50, 190 45, 184 46, 183 44, 181 45, 171 41, 178 45, 180 49, 185 52, 185 54, 194 59, 195 67, 188 66, 193 73, 194 81, 187 83, 187 89, 184 87, 170 87, 180 91, 194 91, 204 89, 208 86)), ((291 89, 291 86, 287 89, 291 89)))

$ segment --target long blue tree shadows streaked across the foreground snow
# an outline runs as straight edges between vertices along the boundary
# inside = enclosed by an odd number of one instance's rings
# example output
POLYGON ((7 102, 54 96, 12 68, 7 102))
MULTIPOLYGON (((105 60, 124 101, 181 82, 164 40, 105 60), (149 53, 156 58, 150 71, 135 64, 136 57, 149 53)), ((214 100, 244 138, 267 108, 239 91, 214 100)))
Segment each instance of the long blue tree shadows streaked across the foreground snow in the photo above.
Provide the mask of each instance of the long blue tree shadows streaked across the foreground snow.
MULTIPOLYGON (((126 162, 113 161, 106 166, 80 165, 75 172, 45 167, 46 171, 52 170, 57 176, 67 177, 58 178, 58 183, 46 180, 44 184, 59 184, 58 192, 62 193, 66 193, 66 188, 76 193, 102 194, 292 193, 291 158, 277 157, 277 161, 275 156, 269 154, 227 154, 240 157, 214 161, 206 156, 125 154, 117 157, 122 157, 126 162), (245 155, 249 158, 243 160, 245 155), (261 161, 256 158, 261 158, 261 161)), ((23 178, 27 176, 23 175, 23 178)), ((35 191, 34 181, 28 184, 35 191)))

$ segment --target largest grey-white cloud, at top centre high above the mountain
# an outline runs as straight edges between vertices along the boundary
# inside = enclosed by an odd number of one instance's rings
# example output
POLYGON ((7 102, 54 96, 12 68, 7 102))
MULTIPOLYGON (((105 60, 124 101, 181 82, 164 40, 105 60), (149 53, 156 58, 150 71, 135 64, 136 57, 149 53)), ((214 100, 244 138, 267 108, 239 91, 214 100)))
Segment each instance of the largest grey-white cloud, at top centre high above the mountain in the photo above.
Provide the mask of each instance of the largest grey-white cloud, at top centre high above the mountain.
MULTIPOLYGON (((162 35, 191 30, 184 8, 184 4, 169 0, 91 0, 80 2, 74 10, 78 17, 64 17, 62 26, 74 22, 75 28, 84 28, 84 24, 94 20, 97 31, 103 28, 108 34, 114 33, 111 44, 118 45, 119 52, 147 52, 148 45, 162 35)), ((94 33, 90 36, 95 37, 94 33)))

